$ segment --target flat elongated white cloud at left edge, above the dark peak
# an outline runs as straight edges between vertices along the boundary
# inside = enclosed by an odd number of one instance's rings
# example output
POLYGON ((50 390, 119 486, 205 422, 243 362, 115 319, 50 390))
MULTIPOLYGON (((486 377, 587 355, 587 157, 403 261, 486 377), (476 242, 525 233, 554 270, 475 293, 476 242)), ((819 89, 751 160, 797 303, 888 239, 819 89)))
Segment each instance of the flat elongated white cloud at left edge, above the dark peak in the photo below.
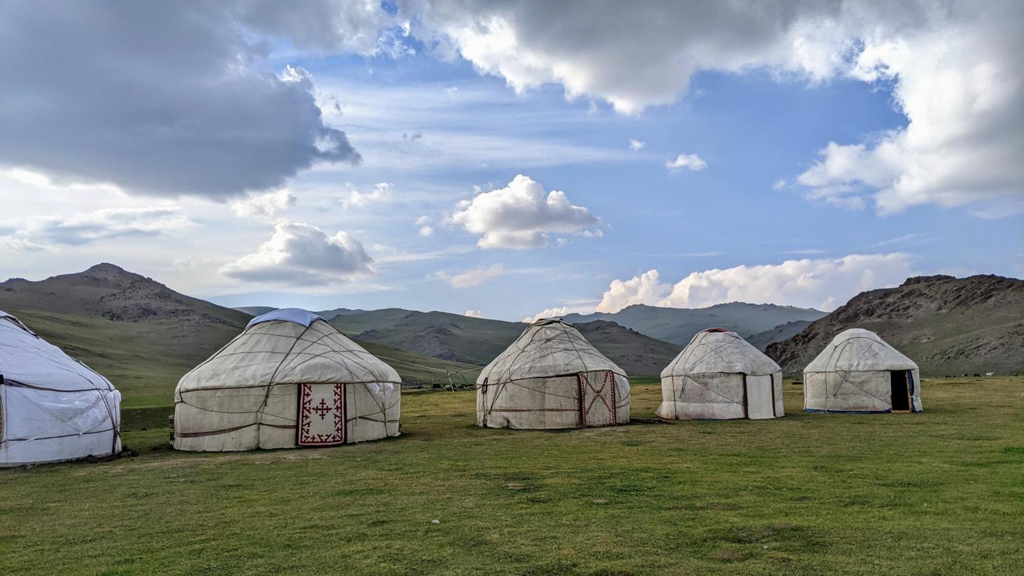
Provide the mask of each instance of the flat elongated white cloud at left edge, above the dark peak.
POLYGON ((196 225, 178 206, 103 208, 71 216, 33 216, 9 222, 10 245, 40 249, 37 242, 80 246, 127 236, 157 236, 196 225))

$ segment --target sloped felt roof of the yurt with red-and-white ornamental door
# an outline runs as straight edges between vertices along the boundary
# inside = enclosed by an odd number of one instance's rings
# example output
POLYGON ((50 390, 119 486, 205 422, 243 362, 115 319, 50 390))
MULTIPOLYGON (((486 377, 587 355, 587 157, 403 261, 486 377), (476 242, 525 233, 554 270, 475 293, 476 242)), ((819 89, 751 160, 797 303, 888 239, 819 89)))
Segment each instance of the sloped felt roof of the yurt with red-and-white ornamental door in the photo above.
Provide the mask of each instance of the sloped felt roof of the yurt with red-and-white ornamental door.
POLYGON ((316 317, 306 326, 285 318, 251 323, 227 345, 182 376, 177 392, 262 387, 268 383, 359 382, 400 384, 401 378, 394 368, 324 319, 316 317))

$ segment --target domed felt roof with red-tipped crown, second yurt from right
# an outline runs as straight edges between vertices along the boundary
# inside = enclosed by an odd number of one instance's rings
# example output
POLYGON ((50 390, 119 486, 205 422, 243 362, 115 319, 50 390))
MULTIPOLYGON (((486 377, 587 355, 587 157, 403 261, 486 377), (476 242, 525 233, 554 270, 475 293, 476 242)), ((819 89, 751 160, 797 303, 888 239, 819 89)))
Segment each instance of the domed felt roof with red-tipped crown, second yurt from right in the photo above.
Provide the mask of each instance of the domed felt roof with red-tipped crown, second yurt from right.
POLYGON ((780 370, 778 364, 739 334, 722 328, 709 328, 690 339, 690 343, 662 371, 662 377, 710 373, 766 376, 780 370))

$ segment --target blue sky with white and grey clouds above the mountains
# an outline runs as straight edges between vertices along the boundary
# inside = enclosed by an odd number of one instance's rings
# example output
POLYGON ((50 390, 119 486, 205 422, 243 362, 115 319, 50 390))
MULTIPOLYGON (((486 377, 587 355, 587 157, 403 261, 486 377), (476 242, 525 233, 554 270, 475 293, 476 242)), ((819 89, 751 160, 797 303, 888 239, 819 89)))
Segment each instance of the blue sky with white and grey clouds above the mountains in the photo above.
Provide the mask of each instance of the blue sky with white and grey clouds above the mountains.
POLYGON ((0 276, 513 321, 1024 276, 1019 2, 0 11, 0 276))

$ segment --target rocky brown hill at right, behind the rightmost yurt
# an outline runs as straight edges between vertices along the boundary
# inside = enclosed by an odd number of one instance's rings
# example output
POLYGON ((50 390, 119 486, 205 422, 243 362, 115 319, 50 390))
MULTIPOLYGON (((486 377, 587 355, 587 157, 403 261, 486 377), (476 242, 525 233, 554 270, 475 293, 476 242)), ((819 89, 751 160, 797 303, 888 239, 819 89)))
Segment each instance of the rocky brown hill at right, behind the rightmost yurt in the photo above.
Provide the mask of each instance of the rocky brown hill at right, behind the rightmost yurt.
POLYGON ((799 373, 836 334, 865 328, 918 363, 923 375, 1024 370, 1024 281, 999 276, 910 278, 861 292, 766 354, 799 373))

